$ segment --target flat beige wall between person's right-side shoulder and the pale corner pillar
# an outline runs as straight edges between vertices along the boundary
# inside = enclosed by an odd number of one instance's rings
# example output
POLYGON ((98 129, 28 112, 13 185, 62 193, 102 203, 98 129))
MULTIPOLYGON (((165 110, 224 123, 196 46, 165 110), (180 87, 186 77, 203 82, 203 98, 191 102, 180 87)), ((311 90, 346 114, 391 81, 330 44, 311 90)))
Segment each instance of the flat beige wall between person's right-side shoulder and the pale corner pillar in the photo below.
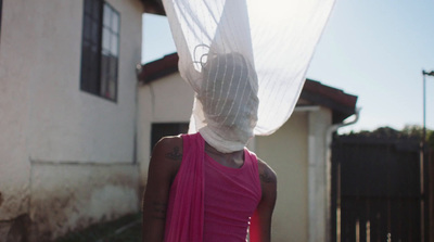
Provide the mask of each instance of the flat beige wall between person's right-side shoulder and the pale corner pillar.
POLYGON ((277 132, 255 138, 256 154, 278 176, 278 201, 272 219, 276 242, 307 241, 307 113, 295 112, 277 132))

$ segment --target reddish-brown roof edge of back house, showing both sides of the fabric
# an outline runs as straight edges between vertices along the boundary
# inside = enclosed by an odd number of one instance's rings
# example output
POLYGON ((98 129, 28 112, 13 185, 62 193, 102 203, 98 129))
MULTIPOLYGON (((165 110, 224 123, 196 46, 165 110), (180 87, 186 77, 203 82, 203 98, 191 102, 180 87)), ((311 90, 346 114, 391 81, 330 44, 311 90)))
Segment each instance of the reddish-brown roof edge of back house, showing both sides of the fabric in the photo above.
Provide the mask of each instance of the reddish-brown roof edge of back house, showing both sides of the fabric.
MULTIPOLYGON (((149 84, 178 72, 178 54, 173 53, 142 65, 138 73, 139 81, 149 84)), ((321 105, 332 110, 333 124, 341 123, 356 113, 357 95, 345 93, 320 81, 306 78, 301 99, 309 104, 321 105)), ((299 105, 299 103, 298 103, 299 105)))

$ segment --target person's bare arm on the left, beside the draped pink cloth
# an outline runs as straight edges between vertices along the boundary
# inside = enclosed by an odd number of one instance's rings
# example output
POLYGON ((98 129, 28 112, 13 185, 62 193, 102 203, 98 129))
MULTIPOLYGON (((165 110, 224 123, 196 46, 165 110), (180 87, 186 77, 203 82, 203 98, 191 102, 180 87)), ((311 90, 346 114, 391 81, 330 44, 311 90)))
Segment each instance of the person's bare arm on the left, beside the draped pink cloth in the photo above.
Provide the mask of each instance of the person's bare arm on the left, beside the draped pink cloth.
POLYGON ((163 138, 155 145, 142 201, 143 242, 162 242, 170 186, 182 161, 182 138, 163 138))

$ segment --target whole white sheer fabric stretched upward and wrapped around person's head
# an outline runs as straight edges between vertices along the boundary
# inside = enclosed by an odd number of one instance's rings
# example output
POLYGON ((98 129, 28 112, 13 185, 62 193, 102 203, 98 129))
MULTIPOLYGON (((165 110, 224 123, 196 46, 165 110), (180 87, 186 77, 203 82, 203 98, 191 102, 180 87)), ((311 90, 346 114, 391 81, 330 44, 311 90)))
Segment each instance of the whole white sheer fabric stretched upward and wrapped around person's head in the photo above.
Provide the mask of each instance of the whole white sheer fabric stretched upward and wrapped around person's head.
POLYGON ((232 152, 291 116, 334 0, 163 3, 179 72, 196 93, 190 132, 232 152))

